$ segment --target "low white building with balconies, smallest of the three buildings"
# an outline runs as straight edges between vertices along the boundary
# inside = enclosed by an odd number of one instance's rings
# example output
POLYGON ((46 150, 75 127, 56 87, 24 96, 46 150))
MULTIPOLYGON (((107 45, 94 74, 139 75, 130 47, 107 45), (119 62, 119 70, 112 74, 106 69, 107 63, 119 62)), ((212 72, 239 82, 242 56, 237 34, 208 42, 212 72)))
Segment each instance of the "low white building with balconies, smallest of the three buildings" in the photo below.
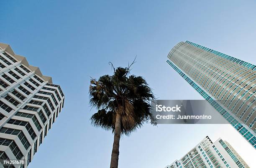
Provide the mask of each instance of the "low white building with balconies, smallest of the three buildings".
POLYGON ((165 168, 249 168, 232 146, 219 138, 212 143, 206 136, 180 160, 165 168))

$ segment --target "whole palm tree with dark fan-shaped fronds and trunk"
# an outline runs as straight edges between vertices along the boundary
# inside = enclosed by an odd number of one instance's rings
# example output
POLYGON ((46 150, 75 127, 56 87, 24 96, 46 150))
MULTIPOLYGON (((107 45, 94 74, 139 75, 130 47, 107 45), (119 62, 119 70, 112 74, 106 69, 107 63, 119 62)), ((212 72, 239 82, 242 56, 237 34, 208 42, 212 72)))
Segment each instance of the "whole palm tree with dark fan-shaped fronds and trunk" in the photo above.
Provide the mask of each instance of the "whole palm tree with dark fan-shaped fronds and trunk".
POLYGON ((113 68, 112 76, 91 79, 89 89, 90 105, 98 110, 91 117, 92 125, 114 133, 110 168, 118 168, 121 135, 130 135, 149 119, 155 125, 150 104, 154 94, 143 77, 130 75, 130 67, 113 68))

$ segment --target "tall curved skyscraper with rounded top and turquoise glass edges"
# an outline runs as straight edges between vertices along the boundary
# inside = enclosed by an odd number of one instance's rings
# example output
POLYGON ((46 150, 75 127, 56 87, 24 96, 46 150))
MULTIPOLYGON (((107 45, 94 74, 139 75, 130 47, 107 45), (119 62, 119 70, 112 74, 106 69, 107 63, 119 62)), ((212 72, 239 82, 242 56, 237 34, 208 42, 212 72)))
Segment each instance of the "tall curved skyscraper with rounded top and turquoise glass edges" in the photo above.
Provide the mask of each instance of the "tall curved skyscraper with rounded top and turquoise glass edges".
POLYGON ((256 66, 193 42, 166 61, 256 148, 256 66))

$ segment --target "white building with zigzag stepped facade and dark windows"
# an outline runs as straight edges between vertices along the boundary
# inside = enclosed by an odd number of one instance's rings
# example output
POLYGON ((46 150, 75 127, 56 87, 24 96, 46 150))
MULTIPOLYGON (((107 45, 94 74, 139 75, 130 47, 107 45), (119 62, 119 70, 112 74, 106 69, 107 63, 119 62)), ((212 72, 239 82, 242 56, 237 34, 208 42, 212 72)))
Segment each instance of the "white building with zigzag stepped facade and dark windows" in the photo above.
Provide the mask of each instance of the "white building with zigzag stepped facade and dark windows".
POLYGON ((60 86, 0 43, 0 168, 26 168, 63 106, 60 86), (6 159, 25 164, 6 166, 6 159))

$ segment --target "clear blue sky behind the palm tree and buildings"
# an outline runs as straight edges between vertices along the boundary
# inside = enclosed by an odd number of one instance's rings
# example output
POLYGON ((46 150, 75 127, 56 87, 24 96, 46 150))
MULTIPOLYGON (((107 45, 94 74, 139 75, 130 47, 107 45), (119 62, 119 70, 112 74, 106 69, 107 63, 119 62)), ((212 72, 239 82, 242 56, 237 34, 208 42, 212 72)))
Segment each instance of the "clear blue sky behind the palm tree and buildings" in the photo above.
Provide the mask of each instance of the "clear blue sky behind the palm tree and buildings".
MULTIPOLYGON (((165 62, 180 41, 256 63, 256 2, 248 0, 4 0, 0 42, 60 84, 64 109, 29 168, 108 168, 113 134, 90 125, 90 76, 113 74, 137 55, 131 73, 159 99, 202 99, 165 62)), ((229 125, 145 125, 120 141, 120 168, 163 168, 202 138, 228 141, 251 167, 256 152, 229 125)))

